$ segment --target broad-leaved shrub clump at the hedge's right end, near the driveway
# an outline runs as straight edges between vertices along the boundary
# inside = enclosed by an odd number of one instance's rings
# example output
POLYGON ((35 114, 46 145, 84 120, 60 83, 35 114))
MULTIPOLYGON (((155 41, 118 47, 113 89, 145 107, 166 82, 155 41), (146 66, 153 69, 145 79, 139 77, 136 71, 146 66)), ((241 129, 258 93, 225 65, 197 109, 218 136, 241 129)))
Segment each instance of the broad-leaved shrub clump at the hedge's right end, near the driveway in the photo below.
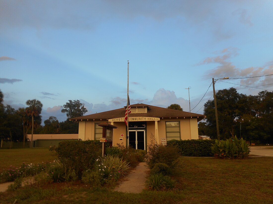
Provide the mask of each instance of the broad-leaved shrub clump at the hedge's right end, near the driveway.
POLYGON ((244 159, 250 153, 250 147, 243 139, 229 138, 226 140, 215 140, 211 146, 215 158, 244 159))

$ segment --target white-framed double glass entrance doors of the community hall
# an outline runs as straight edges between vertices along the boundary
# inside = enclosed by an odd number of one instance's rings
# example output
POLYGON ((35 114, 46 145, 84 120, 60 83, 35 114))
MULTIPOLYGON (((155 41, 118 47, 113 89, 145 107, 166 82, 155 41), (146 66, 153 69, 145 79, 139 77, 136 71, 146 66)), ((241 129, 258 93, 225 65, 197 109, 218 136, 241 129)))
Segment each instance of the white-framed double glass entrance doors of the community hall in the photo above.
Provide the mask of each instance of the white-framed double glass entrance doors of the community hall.
POLYGON ((146 150, 145 147, 145 130, 129 130, 129 146, 134 149, 146 150))

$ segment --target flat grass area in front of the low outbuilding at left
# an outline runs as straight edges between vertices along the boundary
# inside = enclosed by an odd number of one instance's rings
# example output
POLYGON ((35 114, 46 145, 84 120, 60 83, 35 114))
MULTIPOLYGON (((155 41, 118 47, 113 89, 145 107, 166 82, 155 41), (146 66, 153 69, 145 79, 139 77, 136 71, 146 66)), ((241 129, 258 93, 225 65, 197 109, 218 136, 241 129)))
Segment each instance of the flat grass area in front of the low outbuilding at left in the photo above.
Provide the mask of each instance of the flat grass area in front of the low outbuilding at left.
POLYGON ((11 165, 19 167, 23 162, 41 163, 53 162, 54 157, 48 148, 22 148, 22 149, 0 149, 0 172, 3 169, 8 169, 11 165))

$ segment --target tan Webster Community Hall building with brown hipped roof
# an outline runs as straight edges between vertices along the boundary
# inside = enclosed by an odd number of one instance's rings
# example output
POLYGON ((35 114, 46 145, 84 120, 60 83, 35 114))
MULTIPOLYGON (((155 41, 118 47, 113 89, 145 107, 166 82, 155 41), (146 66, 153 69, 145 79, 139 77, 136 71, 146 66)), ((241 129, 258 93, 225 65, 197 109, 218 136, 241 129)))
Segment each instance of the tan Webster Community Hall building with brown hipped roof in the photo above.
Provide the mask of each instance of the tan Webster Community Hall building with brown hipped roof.
POLYGON ((129 137, 124 116, 127 106, 91 115, 70 118, 79 122, 79 139, 99 140, 102 137, 102 127, 99 123, 109 123, 117 128, 113 129, 113 146, 123 143, 135 149, 147 149, 150 136, 156 141, 166 140, 198 140, 198 121, 205 115, 189 113, 180 110, 150 106, 143 103, 131 105, 129 114, 129 137), (162 140, 163 139, 163 140, 162 140))

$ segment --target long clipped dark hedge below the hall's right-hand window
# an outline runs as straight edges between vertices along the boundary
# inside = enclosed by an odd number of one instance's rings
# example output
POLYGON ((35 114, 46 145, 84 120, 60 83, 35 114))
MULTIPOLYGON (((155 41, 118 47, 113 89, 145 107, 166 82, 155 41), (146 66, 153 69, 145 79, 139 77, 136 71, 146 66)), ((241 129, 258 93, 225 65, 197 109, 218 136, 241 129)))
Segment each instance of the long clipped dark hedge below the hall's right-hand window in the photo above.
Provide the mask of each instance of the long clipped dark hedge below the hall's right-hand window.
POLYGON ((211 151, 215 140, 170 140, 167 145, 173 145, 179 148, 181 156, 213 157, 211 151))

